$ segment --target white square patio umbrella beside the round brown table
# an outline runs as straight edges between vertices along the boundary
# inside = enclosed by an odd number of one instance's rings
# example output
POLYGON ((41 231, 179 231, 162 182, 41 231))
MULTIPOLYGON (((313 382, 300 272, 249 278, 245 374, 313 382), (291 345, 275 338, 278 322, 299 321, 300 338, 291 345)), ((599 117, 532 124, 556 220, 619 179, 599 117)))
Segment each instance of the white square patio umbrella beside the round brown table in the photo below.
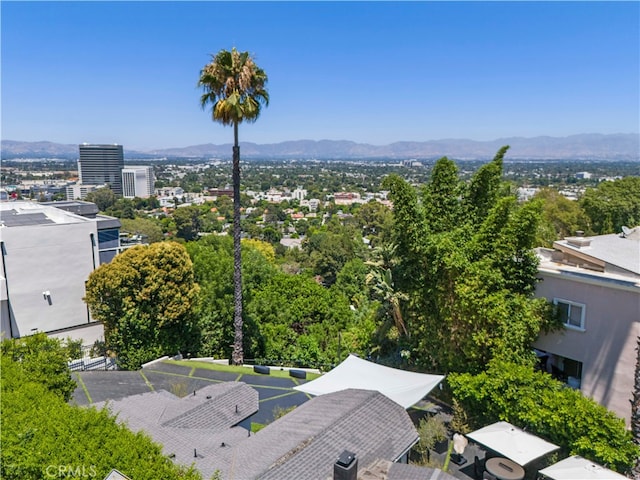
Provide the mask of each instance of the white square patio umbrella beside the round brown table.
POLYGON ((467 437, 513 460, 518 465, 526 465, 560 448, 507 422, 488 425, 468 433, 467 437))

